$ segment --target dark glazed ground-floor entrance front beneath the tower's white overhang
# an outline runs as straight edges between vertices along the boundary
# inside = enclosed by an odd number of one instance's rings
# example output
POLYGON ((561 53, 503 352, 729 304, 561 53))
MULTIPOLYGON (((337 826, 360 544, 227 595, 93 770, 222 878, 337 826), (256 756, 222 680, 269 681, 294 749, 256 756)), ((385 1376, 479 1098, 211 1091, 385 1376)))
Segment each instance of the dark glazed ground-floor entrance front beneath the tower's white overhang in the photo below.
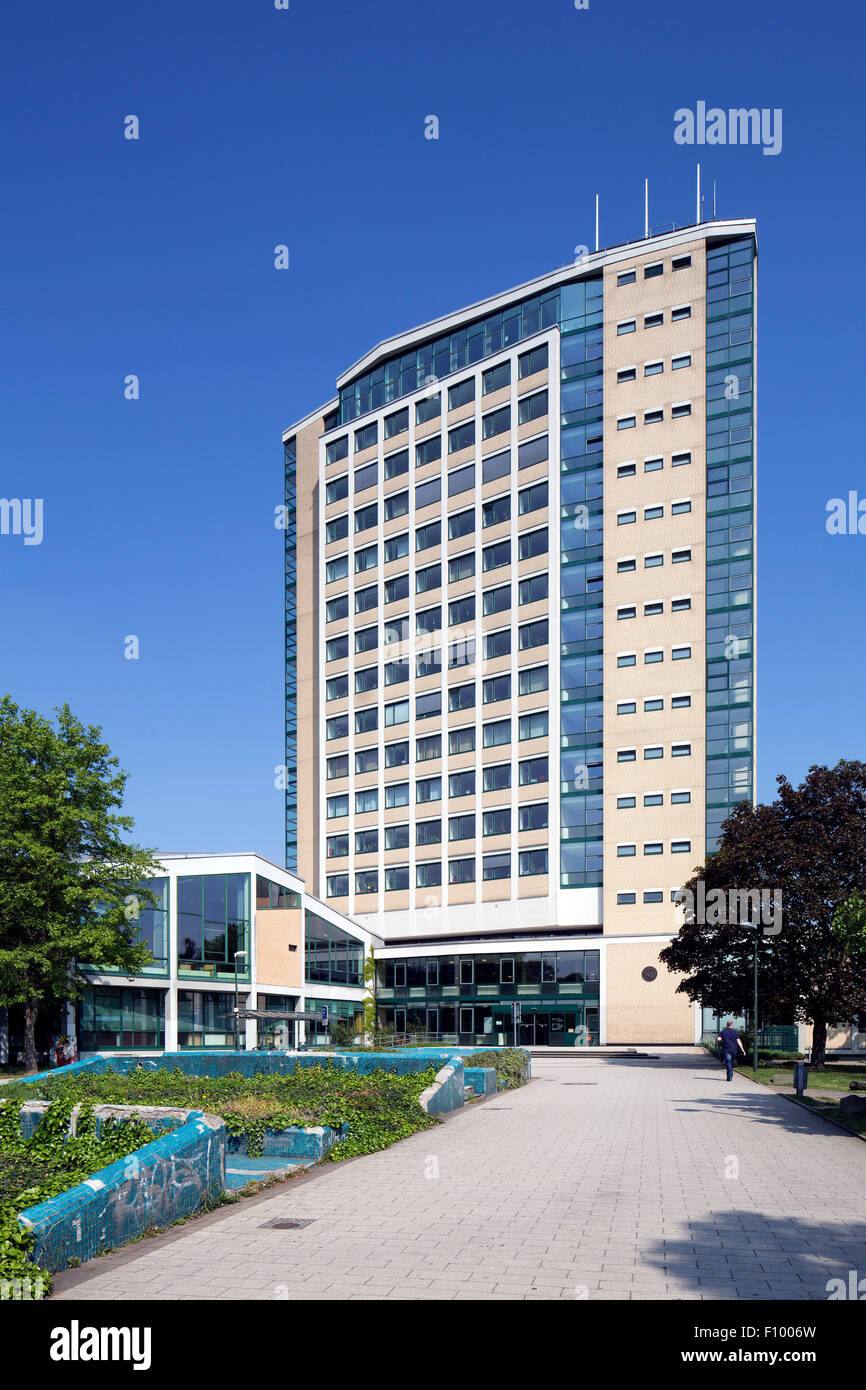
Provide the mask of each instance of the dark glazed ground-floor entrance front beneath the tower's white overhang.
POLYGON ((599 951, 428 955, 377 962, 379 1026, 473 1047, 596 1047, 599 951))

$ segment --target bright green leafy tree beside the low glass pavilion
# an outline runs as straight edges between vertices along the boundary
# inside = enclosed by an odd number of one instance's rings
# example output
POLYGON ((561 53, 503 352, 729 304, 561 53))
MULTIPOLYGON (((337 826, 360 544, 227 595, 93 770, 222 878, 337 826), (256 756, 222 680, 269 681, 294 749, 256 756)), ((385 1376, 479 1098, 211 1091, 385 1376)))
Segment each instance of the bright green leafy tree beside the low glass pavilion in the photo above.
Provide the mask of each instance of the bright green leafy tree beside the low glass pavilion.
POLYGON ((0 699, 0 1005, 24 1004, 28 1072, 39 1008, 81 995, 82 963, 138 974, 152 959, 136 908, 156 905, 142 884, 160 865, 122 838, 126 777, 67 705, 54 726, 0 699))

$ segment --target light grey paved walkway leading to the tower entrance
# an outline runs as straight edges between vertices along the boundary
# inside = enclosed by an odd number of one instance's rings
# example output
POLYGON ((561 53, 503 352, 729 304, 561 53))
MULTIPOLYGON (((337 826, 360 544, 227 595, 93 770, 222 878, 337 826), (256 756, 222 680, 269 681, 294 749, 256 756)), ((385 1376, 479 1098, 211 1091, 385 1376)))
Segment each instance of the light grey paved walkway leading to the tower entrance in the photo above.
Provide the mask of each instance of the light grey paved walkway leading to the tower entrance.
POLYGON ((866 1275, 862 1140, 698 1049, 534 1070, 382 1154, 60 1275, 54 1297, 824 1300, 866 1275))

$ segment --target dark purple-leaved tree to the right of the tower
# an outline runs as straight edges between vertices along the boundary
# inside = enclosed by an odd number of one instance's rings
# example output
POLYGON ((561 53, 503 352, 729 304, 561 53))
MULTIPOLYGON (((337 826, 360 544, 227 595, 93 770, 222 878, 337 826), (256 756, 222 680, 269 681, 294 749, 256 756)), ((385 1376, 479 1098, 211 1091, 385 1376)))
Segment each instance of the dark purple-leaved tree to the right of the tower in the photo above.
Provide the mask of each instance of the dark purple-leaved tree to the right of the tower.
MULTIPOLYGON (((866 763, 813 766, 799 787, 776 781, 776 801, 734 808, 719 849, 685 888, 695 899, 699 880, 708 895, 781 892, 781 930, 758 933, 760 1008, 812 1023, 812 1065, 822 1070, 827 1026, 866 1011, 866 763)), ((752 959, 753 935, 730 912, 687 920, 662 952, 684 976, 678 991, 731 1012, 751 1006, 752 959)))

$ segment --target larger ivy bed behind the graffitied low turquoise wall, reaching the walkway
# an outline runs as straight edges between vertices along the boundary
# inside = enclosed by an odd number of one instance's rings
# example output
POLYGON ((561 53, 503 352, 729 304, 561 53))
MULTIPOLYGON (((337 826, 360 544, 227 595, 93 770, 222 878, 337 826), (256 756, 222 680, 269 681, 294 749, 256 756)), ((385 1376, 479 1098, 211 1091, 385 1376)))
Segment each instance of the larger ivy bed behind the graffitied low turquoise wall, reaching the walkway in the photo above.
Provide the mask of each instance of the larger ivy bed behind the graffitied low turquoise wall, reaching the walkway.
MULTIPOLYGON (((327 1125, 348 1136, 329 1152, 327 1162, 388 1148, 399 1138, 435 1125, 418 1105, 431 1086, 436 1066, 410 1076, 368 1072, 366 1076, 332 1065, 297 1069, 289 1074, 259 1073, 224 1077, 190 1076, 179 1068, 156 1072, 58 1072, 38 1086, 11 1083, 3 1088, 8 1099, 63 1099, 115 1105, 171 1105, 218 1115, 229 1134, 243 1134, 250 1155, 261 1154, 265 1129, 284 1130, 293 1125, 327 1125)), ((150 1136, 152 1137, 152 1136, 150 1136)))

